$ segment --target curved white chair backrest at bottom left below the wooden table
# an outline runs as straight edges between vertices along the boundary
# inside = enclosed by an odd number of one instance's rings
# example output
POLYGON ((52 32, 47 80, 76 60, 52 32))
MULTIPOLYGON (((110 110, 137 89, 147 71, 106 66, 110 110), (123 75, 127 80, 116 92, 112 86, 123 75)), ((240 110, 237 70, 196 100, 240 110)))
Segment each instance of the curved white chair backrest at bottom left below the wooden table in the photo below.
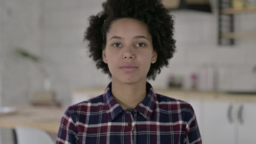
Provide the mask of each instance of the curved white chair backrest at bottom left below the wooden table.
POLYGON ((37 128, 15 127, 18 144, 54 144, 51 137, 37 128))

